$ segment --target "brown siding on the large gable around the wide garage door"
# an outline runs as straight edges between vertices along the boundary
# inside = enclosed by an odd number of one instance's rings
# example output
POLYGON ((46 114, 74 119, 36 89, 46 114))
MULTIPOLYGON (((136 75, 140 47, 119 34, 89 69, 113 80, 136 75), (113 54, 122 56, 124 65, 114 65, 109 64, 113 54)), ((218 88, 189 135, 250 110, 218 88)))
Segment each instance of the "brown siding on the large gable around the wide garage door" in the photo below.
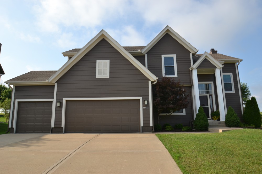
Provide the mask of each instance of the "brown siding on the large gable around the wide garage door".
MULTIPOLYGON (((54 127, 61 127, 63 98, 143 97, 143 101, 149 101, 148 81, 143 73, 102 39, 57 80, 56 99, 61 101, 61 107, 56 107, 54 127), (96 78, 96 60, 110 60, 110 78, 96 78)), ((149 109, 143 109, 143 126, 150 126, 149 109)))

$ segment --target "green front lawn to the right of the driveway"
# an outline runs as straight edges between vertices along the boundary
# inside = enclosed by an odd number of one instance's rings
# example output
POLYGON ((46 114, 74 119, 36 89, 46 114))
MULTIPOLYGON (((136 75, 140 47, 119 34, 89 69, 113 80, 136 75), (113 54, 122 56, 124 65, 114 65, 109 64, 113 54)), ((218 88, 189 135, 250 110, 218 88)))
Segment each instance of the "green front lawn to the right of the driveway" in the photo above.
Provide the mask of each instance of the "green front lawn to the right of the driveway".
POLYGON ((156 134, 183 173, 261 173, 262 130, 156 134))

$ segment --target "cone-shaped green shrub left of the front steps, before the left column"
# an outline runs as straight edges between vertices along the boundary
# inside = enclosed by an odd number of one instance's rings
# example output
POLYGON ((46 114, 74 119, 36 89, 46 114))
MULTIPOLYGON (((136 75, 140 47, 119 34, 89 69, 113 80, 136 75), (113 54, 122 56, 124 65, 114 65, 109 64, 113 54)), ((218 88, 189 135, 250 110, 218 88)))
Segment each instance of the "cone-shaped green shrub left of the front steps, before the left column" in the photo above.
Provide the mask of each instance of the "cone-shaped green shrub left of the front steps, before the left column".
POLYGON ((208 130, 208 125, 208 118, 206 117, 204 109, 202 108, 202 106, 200 106, 194 120, 194 129, 208 130))

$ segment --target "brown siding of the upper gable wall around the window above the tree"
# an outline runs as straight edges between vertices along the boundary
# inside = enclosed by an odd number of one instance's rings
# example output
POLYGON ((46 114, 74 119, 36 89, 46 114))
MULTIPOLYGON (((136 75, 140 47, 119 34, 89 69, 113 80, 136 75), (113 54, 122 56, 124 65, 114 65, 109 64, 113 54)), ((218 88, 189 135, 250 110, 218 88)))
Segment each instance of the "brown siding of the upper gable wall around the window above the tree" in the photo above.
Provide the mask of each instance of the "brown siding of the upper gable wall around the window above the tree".
POLYGON ((162 55, 175 54, 177 62, 176 80, 180 80, 184 85, 191 85, 190 70, 191 60, 190 52, 170 34, 165 34, 147 53, 148 55, 148 69, 159 80, 163 77, 162 74, 162 55))

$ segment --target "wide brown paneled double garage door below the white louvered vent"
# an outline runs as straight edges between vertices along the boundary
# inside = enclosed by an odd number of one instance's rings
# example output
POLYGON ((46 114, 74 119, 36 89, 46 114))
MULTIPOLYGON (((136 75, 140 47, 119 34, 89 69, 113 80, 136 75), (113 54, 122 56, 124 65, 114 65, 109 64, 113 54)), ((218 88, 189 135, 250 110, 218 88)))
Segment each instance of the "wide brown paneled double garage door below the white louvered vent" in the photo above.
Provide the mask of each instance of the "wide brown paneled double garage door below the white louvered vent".
POLYGON ((68 100, 65 133, 140 132, 139 100, 68 100))

